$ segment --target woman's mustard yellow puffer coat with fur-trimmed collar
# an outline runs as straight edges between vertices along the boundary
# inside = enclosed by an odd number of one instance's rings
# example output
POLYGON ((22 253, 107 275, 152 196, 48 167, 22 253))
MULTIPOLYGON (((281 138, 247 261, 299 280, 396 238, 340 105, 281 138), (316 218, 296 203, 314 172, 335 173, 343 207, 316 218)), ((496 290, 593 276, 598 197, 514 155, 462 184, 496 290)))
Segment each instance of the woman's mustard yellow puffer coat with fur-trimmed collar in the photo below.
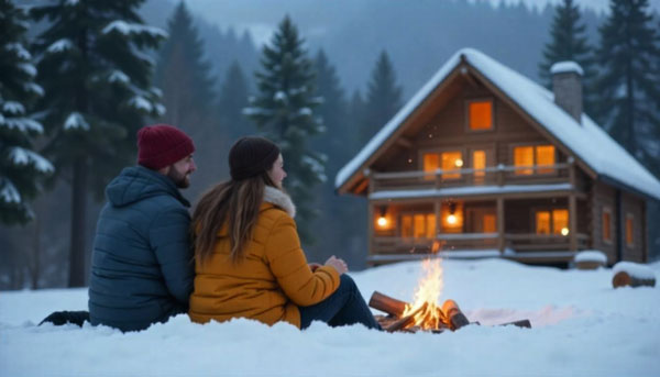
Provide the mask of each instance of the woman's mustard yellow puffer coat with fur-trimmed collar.
POLYGON ((295 214, 288 196, 270 187, 266 191, 271 202, 261 206, 242 262, 234 264, 230 258, 228 226, 218 233, 209 260, 196 260, 189 311, 194 322, 249 318, 270 325, 286 321, 300 328, 298 306, 318 303, 339 287, 333 267, 319 267, 312 273, 307 265, 296 223, 283 210, 293 209, 295 214), (275 199, 270 198, 273 196, 275 199))

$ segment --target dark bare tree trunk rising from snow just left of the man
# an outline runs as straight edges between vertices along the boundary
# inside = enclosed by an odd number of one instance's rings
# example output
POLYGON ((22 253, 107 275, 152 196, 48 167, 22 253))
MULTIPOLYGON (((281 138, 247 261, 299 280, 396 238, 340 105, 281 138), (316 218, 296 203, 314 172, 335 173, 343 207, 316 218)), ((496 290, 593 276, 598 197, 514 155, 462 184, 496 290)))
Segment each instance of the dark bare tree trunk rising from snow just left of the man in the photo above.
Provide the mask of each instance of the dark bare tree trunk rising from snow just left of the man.
POLYGON ((87 211, 87 160, 80 157, 74 163, 72 187, 72 248, 69 254, 69 287, 85 286, 85 235, 87 211))

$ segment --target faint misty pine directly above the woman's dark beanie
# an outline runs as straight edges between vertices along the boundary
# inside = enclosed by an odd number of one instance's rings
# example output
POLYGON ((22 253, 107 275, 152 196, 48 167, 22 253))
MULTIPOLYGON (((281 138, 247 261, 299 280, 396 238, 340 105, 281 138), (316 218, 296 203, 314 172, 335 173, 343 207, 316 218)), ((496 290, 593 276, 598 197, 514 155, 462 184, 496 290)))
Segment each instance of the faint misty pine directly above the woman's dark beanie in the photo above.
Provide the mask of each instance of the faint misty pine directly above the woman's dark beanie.
POLYGON ((254 126, 243 115, 243 109, 248 106, 248 81, 239 62, 234 60, 220 88, 219 111, 222 124, 230 131, 231 138, 253 134, 254 126))

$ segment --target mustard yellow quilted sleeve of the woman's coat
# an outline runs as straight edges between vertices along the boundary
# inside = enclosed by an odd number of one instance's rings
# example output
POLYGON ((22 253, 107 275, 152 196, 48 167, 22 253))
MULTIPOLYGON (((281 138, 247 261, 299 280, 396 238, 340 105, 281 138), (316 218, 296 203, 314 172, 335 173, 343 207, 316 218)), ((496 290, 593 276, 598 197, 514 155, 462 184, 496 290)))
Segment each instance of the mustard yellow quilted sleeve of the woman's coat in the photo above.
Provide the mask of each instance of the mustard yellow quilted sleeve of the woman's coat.
POLYGON ((288 215, 275 223, 266 242, 266 257, 284 293, 297 306, 318 303, 339 288, 339 273, 323 266, 311 271, 300 248, 296 223, 288 215))

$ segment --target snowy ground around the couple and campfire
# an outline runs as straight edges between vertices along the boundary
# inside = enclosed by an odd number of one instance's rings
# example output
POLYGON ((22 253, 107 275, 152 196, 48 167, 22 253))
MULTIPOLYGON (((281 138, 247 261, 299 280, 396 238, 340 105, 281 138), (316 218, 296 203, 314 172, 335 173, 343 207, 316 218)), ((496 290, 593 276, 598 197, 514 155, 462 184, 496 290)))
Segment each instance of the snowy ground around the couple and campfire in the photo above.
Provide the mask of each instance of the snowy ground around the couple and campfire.
MULTIPOLYGON (((454 333, 388 334, 363 326, 306 331, 248 320, 199 325, 186 315, 139 333, 35 326, 54 310, 87 308, 87 291, 0 292, 0 376, 660 376, 660 288, 612 288, 612 270, 444 260, 440 301, 471 321, 454 333), (532 329, 491 326, 518 319, 532 329)), ((660 277, 660 263, 651 265, 660 277)), ((351 274, 411 300, 421 263, 351 274)))

